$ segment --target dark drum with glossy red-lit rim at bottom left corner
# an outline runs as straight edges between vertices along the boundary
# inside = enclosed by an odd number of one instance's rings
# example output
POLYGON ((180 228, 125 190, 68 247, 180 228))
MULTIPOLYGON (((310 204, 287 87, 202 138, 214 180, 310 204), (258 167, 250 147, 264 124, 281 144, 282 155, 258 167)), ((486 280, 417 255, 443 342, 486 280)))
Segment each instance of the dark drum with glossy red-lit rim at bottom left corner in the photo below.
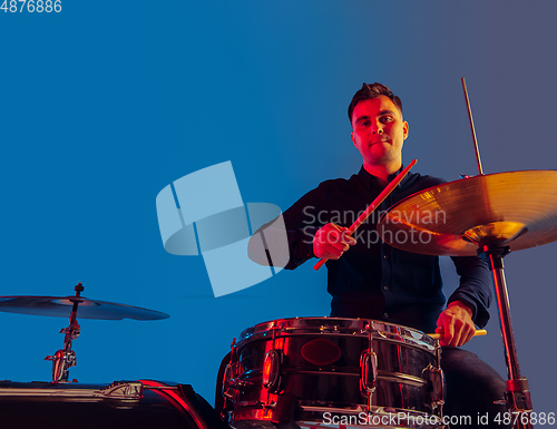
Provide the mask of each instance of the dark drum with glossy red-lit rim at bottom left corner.
POLYGON ((0 381, 2 428, 223 429, 216 411, 188 384, 0 381))

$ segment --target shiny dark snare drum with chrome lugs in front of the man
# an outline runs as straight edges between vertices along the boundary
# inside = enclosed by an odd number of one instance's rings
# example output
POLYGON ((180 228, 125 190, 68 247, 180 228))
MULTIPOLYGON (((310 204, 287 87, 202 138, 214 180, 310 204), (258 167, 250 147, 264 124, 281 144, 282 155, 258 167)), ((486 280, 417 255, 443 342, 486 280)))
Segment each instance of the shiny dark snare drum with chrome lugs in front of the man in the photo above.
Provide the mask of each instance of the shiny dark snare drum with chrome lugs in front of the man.
POLYGON ((362 319, 260 323, 233 343, 224 411, 234 428, 438 428, 441 349, 427 334, 362 319), (296 426, 297 425, 297 426, 296 426))

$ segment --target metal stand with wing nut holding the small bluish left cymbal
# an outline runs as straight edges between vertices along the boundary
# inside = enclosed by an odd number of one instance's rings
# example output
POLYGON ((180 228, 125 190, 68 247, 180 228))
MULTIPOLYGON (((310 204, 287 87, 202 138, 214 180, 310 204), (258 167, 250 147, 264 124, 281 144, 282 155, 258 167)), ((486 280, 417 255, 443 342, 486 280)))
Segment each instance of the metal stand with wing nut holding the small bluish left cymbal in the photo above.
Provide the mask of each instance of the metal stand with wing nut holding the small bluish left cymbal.
POLYGON ((76 352, 71 350, 71 342, 77 340, 81 328, 77 323, 77 306, 80 302, 80 293, 84 291, 81 283, 78 283, 75 287, 76 298, 70 299, 74 302, 71 308, 69 326, 63 328, 60 333, 65 333, 63 338, 63 349, 58 350, 53 355, 48 355, 45 360, 52 361, 52 382, 53 383, 67 383, 69 378, 69 369, 76 365, 76 352))

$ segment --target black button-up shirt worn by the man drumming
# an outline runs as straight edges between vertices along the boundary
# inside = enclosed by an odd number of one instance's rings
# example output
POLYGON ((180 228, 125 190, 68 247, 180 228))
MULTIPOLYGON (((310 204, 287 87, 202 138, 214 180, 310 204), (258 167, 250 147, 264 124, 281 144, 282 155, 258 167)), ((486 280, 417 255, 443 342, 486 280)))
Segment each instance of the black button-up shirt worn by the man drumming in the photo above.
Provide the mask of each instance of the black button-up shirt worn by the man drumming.
MULTIPOLYGON (((389 177, 394 178, 395 174, 389 177)), ((382 212, 397 202, 444 181, 409 173, 380 207, 352 235, 356 244, 339 260, 326 262, 331 316, 383 320, 433 332, 444 306, 439 257, 391 247, 378 234, 382 212)), ((363 167, 350 179, 321 183, 284 212, 293 270, 313 257, 313 237, 326 223, 349 227, 383 189, 363 167)), ((449 298, 472 309, 478 326, 486 325, 491 275, 485 260, 452 257, 460 286, 449 298)))

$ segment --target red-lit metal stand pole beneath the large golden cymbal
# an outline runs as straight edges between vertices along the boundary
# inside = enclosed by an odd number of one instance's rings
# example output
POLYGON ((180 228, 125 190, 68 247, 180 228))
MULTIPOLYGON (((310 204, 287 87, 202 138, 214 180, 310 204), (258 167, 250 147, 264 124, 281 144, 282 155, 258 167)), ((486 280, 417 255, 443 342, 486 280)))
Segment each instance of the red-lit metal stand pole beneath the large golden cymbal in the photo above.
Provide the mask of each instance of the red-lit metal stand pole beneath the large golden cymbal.
POLYGON ((518 354, 515 344, 515 334, 510 320, 510 305, 505 281, 505 267, 502 259, 509 254, 510 248, 500 245, 483 245, 478 250, 478 254, 486 256, 489 261, 489 267, 494 274, 494 285, 497 295, 497 305, 499 310, 499 320, 501 323, 501 337, 505 349, 505 363, 507 364, 507 391, 505 393, 507 410, 510 412, 512 428, 531 429, 530 418, 527 415, 527 423, 524 423, 522 416, 532 410, 530 390, 528 380, 521 377, 518 365, 518 354))

